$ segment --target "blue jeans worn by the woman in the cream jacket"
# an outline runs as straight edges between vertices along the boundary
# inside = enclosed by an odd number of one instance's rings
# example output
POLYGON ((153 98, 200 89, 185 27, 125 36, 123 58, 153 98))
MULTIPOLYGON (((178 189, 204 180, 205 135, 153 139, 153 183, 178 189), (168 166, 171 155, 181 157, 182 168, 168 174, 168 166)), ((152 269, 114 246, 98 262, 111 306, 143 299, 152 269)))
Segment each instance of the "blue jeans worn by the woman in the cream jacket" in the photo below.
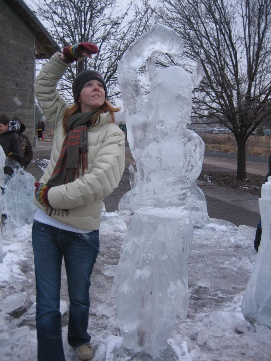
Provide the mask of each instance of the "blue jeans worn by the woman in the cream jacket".
POLYGON ((90 308, 90 275, 99 253, 99 231, 74 233, 33 222, 38 361, 65 361, 61 332, 60 286, 64 256, 68 281, 68 343, 90 341, 87 332, 90 308))

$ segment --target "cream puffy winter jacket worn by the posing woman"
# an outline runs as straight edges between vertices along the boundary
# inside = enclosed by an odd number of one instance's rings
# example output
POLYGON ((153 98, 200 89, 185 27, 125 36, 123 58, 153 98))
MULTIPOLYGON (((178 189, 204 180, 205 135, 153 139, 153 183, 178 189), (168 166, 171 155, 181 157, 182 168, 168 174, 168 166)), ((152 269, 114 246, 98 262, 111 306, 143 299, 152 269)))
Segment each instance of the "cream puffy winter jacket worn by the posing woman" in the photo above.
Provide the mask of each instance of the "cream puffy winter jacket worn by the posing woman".
MULTIPOLYGON (((49 164, 41 183, 47 183, 58 161, 65 134, 63 113, 66 102, 56 90, 69 64, 63 63, 56 53, 43 66, 34 84, 34 91, 45 118, 54 128, 53 148, 49 164)), ((74 182, 52 187, 48 200, 55 211, 51 217, 83 230, 97 230, 100 226, 102 200, 108 196, 122 177, 125 160, 125 137, 123 132, 111 122, 109 112, 101 114, 94 127, 89 129, 88 169, 80 170, 74 182), (68 209, 66 212, 59 210, 68 209)), ((35 205, 46 212, 37 200, 35 205)))

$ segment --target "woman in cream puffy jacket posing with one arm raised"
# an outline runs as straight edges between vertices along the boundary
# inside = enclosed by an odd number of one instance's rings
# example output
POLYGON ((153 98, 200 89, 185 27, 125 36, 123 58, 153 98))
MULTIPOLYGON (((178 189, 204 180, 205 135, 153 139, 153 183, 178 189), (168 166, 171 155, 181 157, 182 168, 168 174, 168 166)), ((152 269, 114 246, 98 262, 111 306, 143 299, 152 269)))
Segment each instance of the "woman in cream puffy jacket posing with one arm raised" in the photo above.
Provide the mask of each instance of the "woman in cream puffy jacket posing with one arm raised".
POLYGON ((35 183, 38 206, 32 229, 35 260, 38 361, 64 361, 60 283, 64 257, 69 293, 68 343, 81 360, 92 356, 89 319, 90 275, 99 253, 102 200, 117 187, 124 170, 123 132, 113 124, 118 108, 107 100, 94 70, 74 80, 74 105, 56 90, 71 62, 98 51, 79 43, 56 53, 36 78, 36 98, 54 127, 50 162, 35 183))

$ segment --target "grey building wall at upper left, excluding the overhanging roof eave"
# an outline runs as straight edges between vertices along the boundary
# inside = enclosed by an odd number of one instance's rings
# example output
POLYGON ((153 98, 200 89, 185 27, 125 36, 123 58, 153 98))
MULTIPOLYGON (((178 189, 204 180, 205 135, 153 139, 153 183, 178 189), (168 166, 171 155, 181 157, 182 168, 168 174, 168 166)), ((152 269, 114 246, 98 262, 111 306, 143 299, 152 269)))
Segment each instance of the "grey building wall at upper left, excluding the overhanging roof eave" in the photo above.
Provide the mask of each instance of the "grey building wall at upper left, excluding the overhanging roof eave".
POLYGON ((34 139, 34 35, 22 19, 0 0, 0 113, 18 116, 34 139))

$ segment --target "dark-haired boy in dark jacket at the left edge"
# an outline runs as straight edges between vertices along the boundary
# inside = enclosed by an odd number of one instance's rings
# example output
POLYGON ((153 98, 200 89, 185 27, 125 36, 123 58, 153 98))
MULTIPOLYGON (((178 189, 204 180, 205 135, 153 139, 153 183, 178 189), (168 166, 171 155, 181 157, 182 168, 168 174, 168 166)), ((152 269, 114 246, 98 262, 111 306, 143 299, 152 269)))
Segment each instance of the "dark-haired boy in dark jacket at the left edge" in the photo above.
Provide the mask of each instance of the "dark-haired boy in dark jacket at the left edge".
MULTIPOLYGON (((20 128, 20 122, 9 121, 6 114, 0 114, 0 146, 7 157, 21 165, 23 160, 23 145, 18 134, 20 128)), ((4 173, 12 175, 13 170, 10 167, 4 167, 4 173)))

